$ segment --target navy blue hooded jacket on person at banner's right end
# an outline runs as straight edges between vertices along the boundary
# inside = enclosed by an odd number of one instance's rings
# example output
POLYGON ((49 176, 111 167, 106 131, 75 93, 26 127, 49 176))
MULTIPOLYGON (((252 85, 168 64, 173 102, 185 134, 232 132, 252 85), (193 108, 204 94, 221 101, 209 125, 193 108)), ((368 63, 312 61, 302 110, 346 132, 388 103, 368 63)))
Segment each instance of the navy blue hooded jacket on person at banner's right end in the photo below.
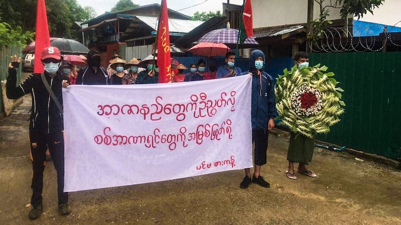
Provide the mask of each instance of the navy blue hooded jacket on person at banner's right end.
POLYGON ((252 129, 268 129, 270 118, 276 117, 276 100, 274 96, 273 77, 263 71, 265 67, 265 54, 261 50, 253 50, 249 57, 249 71, 242 72, 241 75, 252 73, 252 103, 251 103, 251 122, 252 129), (255 67, 255 59, 263 57, 263 67, 255 67))

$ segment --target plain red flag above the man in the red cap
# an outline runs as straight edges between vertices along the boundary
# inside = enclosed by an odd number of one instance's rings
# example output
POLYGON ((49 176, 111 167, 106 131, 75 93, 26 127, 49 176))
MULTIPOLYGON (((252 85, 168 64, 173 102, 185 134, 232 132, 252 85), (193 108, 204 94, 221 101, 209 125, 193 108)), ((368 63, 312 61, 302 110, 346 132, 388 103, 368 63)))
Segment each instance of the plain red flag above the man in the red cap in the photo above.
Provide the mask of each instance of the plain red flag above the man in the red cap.
POLYGON ((34 72, 42 73, 44 71, 41 59, 42 50, 50 46, 49 26, 47 23, 45 0, 38 0, 36 11, 36 29, 35 29, 35 65, 34 72))

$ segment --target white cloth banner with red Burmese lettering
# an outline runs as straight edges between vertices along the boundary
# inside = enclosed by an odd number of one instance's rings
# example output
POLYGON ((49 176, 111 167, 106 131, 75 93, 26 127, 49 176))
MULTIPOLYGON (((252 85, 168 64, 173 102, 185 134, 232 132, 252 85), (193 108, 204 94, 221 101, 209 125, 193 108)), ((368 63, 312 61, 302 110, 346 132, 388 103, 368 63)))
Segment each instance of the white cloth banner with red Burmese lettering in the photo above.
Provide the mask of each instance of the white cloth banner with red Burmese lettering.
POLYGON ((249 168, 251 76, 63 88, 65 191, 249 168))

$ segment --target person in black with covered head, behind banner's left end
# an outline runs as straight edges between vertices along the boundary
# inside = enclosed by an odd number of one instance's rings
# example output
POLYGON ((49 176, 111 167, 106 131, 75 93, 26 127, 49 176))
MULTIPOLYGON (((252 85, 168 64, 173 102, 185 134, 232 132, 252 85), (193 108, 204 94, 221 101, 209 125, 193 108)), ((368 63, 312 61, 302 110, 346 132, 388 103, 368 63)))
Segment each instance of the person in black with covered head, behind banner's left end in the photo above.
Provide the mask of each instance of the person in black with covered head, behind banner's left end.
POLYGON ((78 71, 77 81, 75 84, 107 84, 108 74, 106 69, 100 66, 100 54, 96 50, 88 52, 88 66, 78 71))

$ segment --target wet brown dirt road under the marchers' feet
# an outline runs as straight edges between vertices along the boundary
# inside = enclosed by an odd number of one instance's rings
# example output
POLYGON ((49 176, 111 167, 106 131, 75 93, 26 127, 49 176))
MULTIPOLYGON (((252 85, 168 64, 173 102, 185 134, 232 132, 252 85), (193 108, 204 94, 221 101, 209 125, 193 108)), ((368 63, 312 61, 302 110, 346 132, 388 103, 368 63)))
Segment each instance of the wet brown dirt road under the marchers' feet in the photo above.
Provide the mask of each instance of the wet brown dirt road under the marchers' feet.
MULTIPOLYGON (((30 224, 30 96, 0 118, 0 224, 30 224)), ((346 152, 315 148, 317 177, 286 177, 288 138, 269 136, 261 174, 270 188, 241 189, 243 170, 70 193, 57 211, 56 171, 47 163, 37 224, 401 224, 401 172, 346 152)), ((90 163, 90 162, 88 162, 90 163)), ((253 171, 253 169, 251 169, 253 171)), ((149 174, 144 174, 149 175, 149 174)))

